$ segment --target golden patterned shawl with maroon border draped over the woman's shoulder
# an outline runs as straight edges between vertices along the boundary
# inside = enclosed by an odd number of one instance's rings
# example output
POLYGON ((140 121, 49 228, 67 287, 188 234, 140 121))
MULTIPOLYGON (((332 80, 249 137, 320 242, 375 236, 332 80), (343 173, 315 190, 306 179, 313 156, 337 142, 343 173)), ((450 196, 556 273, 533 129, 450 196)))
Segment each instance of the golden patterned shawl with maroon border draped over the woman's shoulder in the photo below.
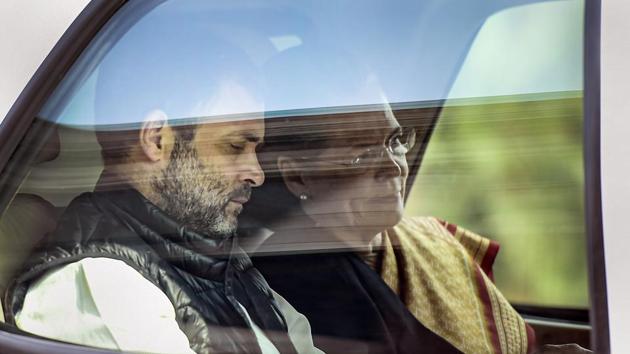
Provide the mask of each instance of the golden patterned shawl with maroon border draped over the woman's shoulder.
POLYGON ((464 353, 533 350, 533 330, 492 281, 496 242, 433 217, 382 236, 375 270, 427 328, 464 353))

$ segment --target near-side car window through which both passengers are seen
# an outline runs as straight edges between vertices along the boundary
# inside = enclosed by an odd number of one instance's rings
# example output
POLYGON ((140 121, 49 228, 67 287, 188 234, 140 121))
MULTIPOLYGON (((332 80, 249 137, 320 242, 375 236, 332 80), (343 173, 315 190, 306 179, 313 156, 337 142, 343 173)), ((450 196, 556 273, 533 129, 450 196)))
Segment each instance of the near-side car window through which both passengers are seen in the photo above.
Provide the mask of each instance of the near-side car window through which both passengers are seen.
POLYGON ((589 347, 583 7, 128 3, 4 172, 5 320, 142 352, 589 347))

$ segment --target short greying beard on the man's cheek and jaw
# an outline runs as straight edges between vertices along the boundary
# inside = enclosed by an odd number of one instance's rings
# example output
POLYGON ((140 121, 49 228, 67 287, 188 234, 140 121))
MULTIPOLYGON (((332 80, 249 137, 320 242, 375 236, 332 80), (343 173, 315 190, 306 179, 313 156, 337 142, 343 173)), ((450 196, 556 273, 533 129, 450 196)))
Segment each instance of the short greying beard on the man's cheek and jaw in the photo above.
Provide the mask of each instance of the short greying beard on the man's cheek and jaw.
POLYGON ((230 198, 226 177, 199 160, 197 149, 176 139, 168 166, 151 186, 157 206, 186 228, 212 238, 236 231, 236 217, 225 215, 230 198))

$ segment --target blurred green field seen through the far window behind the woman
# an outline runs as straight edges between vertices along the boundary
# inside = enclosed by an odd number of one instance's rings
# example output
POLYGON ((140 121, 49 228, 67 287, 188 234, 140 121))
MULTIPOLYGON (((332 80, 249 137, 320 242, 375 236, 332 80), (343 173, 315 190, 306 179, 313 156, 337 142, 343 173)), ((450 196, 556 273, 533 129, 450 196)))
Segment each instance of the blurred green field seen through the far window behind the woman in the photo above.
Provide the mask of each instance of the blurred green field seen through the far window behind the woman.
POLYGON ((587 307, 582 92, 453 100, 443 109, 408 215, 498 241, 513 303, 587 307))

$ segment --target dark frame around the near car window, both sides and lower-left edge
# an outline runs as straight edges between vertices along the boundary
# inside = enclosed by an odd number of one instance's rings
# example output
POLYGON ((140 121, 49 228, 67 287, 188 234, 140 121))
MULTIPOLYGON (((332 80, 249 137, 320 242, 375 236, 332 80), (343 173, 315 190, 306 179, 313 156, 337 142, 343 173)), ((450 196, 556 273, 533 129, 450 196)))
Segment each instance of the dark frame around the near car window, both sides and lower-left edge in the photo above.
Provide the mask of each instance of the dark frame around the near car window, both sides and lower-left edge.
MULTIPOLYGON (((95 35, 127 1, 92 0, 75 19, 21 92, 0 129, 0 184, 10 169, 10 158, 33 123, 43 104, 95 35)), ((601 0, 586 0, 584 38, 584 161, 586 227, 588 236, 589 288, 591 298, 592 344, 598 353, 610 352, 607 278, 604 257, 601 176, 601 87, 600 33, 601 0)), ((612 6, 612 5, 611 5, 612 6)), ((627 84, 626 84, 627 86, 627 84)), ((4 184, 6 185, 6 184, 4 184)), ((0 206, 12 198, 11 188, 0 190, 0 206)), ((2 328, 4 329, 4 328, 2 328)), ((107 353, 50 340, 25 338, 0 331, 0 349, 14 353, 107 353)))

